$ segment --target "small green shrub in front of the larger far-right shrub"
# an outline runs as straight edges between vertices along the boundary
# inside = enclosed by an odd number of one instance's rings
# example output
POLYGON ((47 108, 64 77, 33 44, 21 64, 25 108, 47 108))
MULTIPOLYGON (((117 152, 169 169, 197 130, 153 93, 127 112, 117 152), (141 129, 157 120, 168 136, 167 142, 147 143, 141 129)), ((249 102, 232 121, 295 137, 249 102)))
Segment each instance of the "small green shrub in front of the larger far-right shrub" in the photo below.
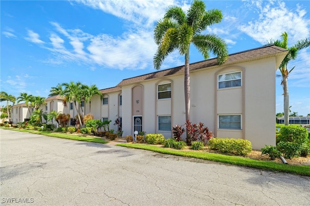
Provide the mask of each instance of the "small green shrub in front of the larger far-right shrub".
POLYGON ((300 157, 301 145, 295 142, 279 142, 277 149, 285 158, 300 157))

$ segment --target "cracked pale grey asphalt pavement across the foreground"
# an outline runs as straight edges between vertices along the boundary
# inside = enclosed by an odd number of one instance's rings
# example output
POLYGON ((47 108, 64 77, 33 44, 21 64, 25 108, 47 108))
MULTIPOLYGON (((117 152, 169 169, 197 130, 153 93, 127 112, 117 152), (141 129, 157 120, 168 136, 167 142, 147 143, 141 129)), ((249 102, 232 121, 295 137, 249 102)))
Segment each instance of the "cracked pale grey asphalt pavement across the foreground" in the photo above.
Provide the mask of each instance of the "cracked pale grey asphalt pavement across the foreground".
POLYGON ((0 129, 0 204, 310 206, 310 177, 0 129))

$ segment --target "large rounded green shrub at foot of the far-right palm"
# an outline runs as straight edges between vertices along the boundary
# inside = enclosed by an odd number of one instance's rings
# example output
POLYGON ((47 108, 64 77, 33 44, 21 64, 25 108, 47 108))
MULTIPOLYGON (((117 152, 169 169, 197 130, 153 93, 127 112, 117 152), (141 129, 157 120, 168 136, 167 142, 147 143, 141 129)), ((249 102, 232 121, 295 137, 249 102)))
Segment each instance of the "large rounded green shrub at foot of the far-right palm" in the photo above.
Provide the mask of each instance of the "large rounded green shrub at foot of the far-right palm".
POLYGON ((299 145, 308 142, 308 131, 303 127, 283 126, 278 135, 279 142, 294 142, 299 145))

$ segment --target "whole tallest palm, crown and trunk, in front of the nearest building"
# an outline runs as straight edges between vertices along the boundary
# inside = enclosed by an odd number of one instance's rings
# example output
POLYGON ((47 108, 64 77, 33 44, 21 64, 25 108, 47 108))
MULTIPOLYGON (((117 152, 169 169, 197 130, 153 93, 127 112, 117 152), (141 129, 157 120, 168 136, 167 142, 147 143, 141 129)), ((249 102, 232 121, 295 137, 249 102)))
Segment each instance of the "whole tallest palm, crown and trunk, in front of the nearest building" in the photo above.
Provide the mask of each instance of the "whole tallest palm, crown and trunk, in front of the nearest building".
MULTIPOLYGON (((184 93, 186 121, 190 120, 190 81, 189 81, 189 46, 194 44, 204 59, 213 52, 217 56, 217 63, 223 64, 228 57, 227 44, 214 34, 201 34, 208 26, 219 23, 222 19, 221 11, 212 9, 206 11, 201 0, 194 0, 187 14, 181 7, 171 6, 166 11, 163 20, 159 20, 154 29, 154 40, 158 45, 154 56, 156 70, 164 59, 174 50, 185 56, 184 93)), ((188 133, 186 131, 186 133, 188 133)), ((187 135, 188 136, 188 135, 187 135)))

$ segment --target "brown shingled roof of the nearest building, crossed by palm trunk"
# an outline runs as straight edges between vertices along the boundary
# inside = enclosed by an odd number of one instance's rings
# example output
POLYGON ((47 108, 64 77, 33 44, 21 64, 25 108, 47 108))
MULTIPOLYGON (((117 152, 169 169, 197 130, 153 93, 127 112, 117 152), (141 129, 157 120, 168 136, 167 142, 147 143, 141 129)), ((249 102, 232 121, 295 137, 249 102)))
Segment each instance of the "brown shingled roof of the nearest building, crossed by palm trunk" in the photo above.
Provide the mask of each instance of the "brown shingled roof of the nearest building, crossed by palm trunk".
MULTIPOLYGON (((287 50, 281 47, 275 46, 275 45, 266 45, 263 47, 231 54, 229 55, 228 59, 225 61, 223 65, 227 66, 230 64, 238 63, 238 62, 250 61, 254 59, 263 59, 269 56, 275 56, 275 54, 282 53, 285 51, 287 50)), ((191 63, 189 66, 189 70, 194 71, 194 70, 199 70, 202 68, 208 68, 208 67, 213 67, 213 66, 217 66, 216 58, 191 63)), ((145 81, 149 79, 155 79, 155 78, 176 75, 176 74, 184 74, 184 65, 179 66, 179 67, 174 67, 171 69, 161 70, 161 71, 154 72, 154 73, 143 74, 140 76, 135 76, 132 78, 124 79, 116 87, 122 87, 124 85, 132 84, 132 83, 137 83, 137 82, 141 82, 141 81, 145 81)))

